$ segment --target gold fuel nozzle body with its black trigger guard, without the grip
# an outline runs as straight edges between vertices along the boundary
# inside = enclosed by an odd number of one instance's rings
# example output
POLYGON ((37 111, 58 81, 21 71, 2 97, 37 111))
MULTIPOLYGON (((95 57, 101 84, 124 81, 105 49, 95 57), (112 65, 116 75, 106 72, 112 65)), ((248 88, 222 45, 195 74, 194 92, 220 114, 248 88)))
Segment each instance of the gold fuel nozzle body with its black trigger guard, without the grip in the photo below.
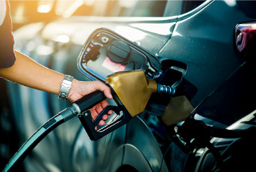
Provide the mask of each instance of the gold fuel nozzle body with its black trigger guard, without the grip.
POLYGON ((91 115, 88 115, 89 112, 78 116, 91 140, 102 138, 145 111, 149 98, 158 89, 156 81, 147 79, 143 70, 116 72, 107 76, 106 84, 111 88, 113 100, 118 106, 106 107, 107 110, 103 110, 95 120, 91 118, 91 115), (98 130, 95 129, 97 122, 110 109, 116 113, 118 118, 114 118, 108 125, 99 127, 98 130))

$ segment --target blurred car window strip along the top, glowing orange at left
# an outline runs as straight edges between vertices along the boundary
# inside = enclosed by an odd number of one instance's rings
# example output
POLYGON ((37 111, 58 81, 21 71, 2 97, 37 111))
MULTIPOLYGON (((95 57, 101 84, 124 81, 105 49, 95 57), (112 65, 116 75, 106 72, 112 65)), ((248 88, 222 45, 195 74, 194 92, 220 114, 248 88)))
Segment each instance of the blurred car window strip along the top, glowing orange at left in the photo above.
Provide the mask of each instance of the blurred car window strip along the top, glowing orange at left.
MULTIPOLYGON (((0 0, 1 1, 1 0, 0 0)), ((172 17, 193 10, 203 1, 174 0, 20 0, 10 1, 14 30, 28 23, 58 17, 172 17)))

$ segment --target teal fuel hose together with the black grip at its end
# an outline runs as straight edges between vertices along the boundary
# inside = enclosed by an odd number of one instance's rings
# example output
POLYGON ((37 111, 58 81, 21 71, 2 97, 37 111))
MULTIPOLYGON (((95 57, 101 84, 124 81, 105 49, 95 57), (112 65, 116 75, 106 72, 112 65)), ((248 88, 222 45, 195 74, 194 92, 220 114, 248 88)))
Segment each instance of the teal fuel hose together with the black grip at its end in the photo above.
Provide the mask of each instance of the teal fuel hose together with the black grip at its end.
POLYGON ((91 107, 97 105, 104 99, 106 99, 104 93, 96 91, 75 101, 71 107, 60 111, 59 114, 53 116, 53 118, 44 123, 42 127, 37 129, 37 131, 35 131, 35 133, 30 138, 28 138, 28 140, 21 146, 17 153, 12 156, 3 171, 12 171, 15 166, 19 164, 19 162, 22 162, 28 153, 30 153, 30 151, 32 151, 37 146, 37 144, 47 136, 48 133, 53 131, 53 129, 70 120, 74 116, 77 116, 78 114, 91 109, 91 107))

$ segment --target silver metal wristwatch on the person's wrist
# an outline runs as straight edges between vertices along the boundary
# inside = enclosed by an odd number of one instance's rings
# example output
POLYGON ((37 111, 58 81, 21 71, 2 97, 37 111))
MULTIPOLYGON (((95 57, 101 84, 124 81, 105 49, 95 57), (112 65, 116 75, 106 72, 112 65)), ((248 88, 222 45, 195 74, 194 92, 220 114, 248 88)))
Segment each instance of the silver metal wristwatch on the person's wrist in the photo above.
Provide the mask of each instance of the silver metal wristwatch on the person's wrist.
POLYGON ((69 89, 71 88, 73 78, 74 78, 73 76, 65 75, 62 81, 62 85, 60 87, 60 94, 59 94, 60 99, 62 100, 68 99, 68 92, 69 92, 69 89))

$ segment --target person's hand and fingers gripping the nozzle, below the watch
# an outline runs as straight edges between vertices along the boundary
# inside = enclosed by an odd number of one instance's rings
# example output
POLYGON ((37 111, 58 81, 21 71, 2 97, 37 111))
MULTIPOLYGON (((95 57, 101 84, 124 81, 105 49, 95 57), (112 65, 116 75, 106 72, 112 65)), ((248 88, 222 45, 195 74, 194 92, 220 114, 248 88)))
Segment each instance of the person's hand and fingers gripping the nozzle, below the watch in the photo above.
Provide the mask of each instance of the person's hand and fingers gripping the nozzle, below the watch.
MULTIPOLYGON (((68 94, 68 100, 74 102, 75 100, 78 100, 83 96, 90 94, 91 92, 95 92, 97 90, 104 92, 104 96, 106 96, 107 98, 112 98, 110 88, 107 87, 107 85, 104 85, 104 83, 100 82, 99 80, 79 81, 73 79, 73 83, 68 94)), ((107 106, 109 106, 109 103, 107 102, 107 100, 103 100, 98 105, 92 107, 90 111, 93 119, 95 119, 100 114, 100 112, 107 106)), ((99 125, 104 125, 104 121, 107 120, 109 118, 109 115, 111 115, 112 113, 113 111, 108 111, 108 113, 102 117, 102 120, 100 120, 99 125)))

